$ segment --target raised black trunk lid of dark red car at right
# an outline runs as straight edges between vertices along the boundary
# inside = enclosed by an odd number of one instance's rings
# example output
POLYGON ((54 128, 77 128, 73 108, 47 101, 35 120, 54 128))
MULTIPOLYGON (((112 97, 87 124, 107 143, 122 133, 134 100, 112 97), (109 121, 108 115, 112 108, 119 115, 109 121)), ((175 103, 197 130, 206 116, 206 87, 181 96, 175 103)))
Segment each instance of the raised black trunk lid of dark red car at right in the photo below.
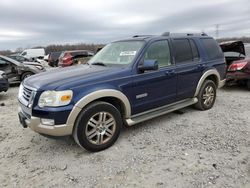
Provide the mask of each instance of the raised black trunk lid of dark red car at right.
POLYGON ((221 42, 220 47, 223 52, 238 52, 242 55, 246 55, 245 47, 242 41, 221 42))

